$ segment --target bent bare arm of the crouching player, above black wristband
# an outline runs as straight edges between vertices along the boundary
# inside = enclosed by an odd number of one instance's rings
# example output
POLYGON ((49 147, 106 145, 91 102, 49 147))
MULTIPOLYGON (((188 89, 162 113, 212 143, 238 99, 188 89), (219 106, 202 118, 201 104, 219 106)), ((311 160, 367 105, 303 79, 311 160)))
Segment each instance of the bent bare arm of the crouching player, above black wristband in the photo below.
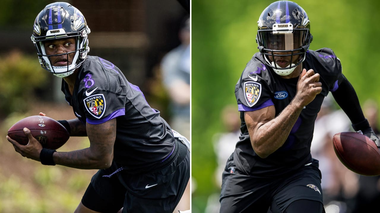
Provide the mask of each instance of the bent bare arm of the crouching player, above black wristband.
POLYGON ((55 152, 55 164, 77 169, 104 169, 111 166, 116 139, 116 119, 86 125, 90 147, 71 152, 55 152))

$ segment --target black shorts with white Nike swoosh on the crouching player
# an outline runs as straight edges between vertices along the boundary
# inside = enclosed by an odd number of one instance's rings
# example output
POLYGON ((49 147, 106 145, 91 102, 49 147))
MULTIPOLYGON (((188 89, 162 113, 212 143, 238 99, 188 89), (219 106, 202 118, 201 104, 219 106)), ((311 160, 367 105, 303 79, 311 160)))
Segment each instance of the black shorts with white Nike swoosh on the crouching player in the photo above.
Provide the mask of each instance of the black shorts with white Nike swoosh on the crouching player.
MULTIPOLYGON (((82 204, 102 213, 173 213, 190 179, 190 151, 176 139, 169 164, 144 174, 128 174, 116 163, 91 179, 82 204), (176 151, 177 149, 177 151, 176 151)), ((165 164, 166 163, 166 164, 165 164)))

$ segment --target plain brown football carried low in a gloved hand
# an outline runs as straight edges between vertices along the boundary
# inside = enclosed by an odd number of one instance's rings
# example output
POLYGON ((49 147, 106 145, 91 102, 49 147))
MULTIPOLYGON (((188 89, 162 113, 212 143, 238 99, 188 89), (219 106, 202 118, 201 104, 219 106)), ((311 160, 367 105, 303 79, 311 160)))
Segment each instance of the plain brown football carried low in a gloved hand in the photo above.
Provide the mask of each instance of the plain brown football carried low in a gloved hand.
POLYGON ((380 151, 372 139, 357 132, 341 132, 332 142, 336 156, 348 169, 360 175, 380 175, 380 151))

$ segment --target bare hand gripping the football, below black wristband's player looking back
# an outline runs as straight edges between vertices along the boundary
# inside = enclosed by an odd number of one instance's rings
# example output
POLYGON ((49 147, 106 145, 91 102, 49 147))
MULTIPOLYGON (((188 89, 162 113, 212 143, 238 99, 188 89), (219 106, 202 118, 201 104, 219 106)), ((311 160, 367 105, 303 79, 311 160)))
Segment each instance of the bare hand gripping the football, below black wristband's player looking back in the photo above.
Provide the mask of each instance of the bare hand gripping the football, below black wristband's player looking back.
POLYGON ((13 140, 9 136, 6 136, 6 139, 8 139, 8 141, 12 143, 14 150, 20 153, 23 157, 40 161, 40 152, 42 150, 41 143, 33 137, 32 133, 30 132, 30 130, 28 130, 28 128, 24 128, 24 133, 29 139, 29 143, 26 145, 21 145, 17 143, 17 141, 13 140))

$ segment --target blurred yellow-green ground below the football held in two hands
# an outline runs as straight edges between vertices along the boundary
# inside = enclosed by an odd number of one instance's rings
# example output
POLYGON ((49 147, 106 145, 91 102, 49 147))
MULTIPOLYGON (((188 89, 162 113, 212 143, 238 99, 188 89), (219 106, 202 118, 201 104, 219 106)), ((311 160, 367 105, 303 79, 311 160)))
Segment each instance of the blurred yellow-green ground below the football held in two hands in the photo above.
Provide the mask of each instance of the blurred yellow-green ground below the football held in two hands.
MULTIPOLYGON (((0 125, 0 132, 30 113, 13 113, 0 125)), ((75 137, 76 138, 76 137, 75 137)), ((58 151, 83 149, 89 146, 87 137, 70 143, 58 151)), ((81 170, 64 166, 44 166, 23 158, 11 144, 0 139, 0 212, 4 213, 67 213, 78 206, 96 170, 81 170)))

